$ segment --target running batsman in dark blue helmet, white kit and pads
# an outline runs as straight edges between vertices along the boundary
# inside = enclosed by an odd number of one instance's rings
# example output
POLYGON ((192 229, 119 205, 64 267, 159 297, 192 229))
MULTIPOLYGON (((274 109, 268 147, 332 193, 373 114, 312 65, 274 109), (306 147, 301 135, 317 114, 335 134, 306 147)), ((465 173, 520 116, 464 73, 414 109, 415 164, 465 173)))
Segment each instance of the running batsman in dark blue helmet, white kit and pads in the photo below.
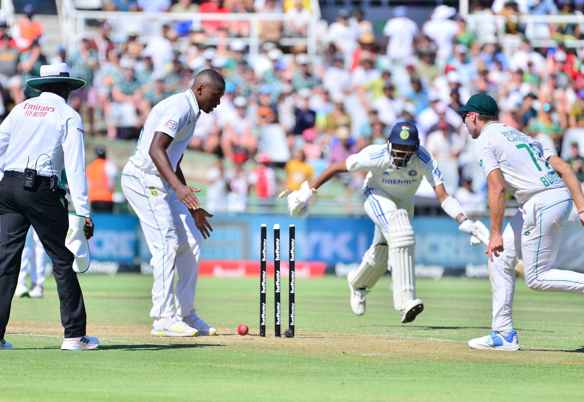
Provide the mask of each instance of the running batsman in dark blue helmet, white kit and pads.
POLYGON ((373 243, 356 271, 347 275, 350 304, 356 315, 365 313, 365 296, 383 276, 392 274, 394 307, 401 311, 401 322, 412 322, 424 309, 416 297, 414 272, 415 234, 413 196, 423 177, 432 185, 442 208, 460 224, 461 231, 471 235, 471 244, 488 244, 489 231, 479 221, 468 219, 456 199, 448 195, 442 174, 432 154, 420 146, 418 129, 411 122, 398 122, 391 130, 387 145, 371 145, 344 161, 333 163, 309 186, 288 195, 292 217, 308 216, 308 201, 320 186, 343 172, 368 171, 363 184, 364 209, 375 223, 373 243))

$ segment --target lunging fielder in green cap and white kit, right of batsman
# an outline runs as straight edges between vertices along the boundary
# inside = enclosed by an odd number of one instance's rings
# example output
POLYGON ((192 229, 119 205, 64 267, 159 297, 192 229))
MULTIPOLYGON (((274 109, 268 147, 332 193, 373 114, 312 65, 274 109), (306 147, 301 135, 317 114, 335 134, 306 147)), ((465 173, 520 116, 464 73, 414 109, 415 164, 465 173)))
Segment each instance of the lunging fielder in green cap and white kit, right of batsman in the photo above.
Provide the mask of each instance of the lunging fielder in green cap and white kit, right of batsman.
POLYGON ((471 96, 457 110, 477 139, 473 153, 489 185, 491 210, 491 239, 485 254, 493 288, 493 331, 468 345, 519 350, 512 319, 519 259, 523 259, 525 281, 531 289, 584 294, 584 274, 554 267, 562 227, 573 204, 584 225, 584 195, 569 164, 537 140, 496 121, 497 111, 496 101, 486 94, 471 96), (522 207, 503 231, 506 191, 522 207))

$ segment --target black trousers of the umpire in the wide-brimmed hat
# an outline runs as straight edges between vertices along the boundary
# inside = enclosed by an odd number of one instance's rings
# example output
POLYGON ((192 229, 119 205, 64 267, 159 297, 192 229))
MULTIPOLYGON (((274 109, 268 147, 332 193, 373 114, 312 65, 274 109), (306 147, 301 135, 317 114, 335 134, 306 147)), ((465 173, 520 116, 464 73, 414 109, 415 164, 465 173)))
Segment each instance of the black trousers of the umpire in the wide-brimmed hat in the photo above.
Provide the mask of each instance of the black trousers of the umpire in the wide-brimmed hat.
POLYGON ((25 190, 20 178, 5 176, 0 181, 0 339, 4 338, 10 318, 20 258, 30 225, 53 261, 65 338, 86 334, 83 294, 72 269, 74 256, 65 247, 69 220, 64 193, 61 189, 51 191, 48 182, 39 180, 33 191, 25 190))

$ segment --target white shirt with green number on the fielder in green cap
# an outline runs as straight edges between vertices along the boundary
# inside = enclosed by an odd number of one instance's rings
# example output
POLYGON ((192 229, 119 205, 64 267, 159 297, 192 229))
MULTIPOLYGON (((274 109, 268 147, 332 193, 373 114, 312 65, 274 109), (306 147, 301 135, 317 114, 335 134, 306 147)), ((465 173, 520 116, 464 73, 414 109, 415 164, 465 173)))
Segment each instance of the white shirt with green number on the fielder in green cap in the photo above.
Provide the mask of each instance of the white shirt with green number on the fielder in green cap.
POLYGON ((538 191, 565 187, 547 163, 554 153, 512 126, 496 121, 485 125, 472 151, 485 177, 500 170, 505 187, 519 203, 538 191))

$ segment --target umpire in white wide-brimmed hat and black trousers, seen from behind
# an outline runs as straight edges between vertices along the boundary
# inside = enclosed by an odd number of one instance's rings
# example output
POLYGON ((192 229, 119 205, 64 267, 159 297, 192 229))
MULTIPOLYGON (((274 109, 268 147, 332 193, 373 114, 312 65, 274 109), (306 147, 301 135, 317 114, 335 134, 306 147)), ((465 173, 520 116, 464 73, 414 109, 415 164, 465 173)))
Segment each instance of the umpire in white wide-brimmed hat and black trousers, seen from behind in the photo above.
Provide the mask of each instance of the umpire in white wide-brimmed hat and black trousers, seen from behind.
POLYGON ((89 350, 99 346, 86 336, 86 314, 74 255, 65 247, 68 208, 65 191, 58 187, 67 170, 71 198, 78 215, 86 217, 85 236, 93 235, 85 181, 83 122, 67 105, 71 91, 85 81, 69 77, 65 63, 44 65, 40 78, 26 84, 39 97, 15 106, 0 125, 0 349, 12 349, 4 339, 12 297, 20 271, 20 256, 30 225, 53 261, 53 274, 65 328, 62 350, 89 350))

